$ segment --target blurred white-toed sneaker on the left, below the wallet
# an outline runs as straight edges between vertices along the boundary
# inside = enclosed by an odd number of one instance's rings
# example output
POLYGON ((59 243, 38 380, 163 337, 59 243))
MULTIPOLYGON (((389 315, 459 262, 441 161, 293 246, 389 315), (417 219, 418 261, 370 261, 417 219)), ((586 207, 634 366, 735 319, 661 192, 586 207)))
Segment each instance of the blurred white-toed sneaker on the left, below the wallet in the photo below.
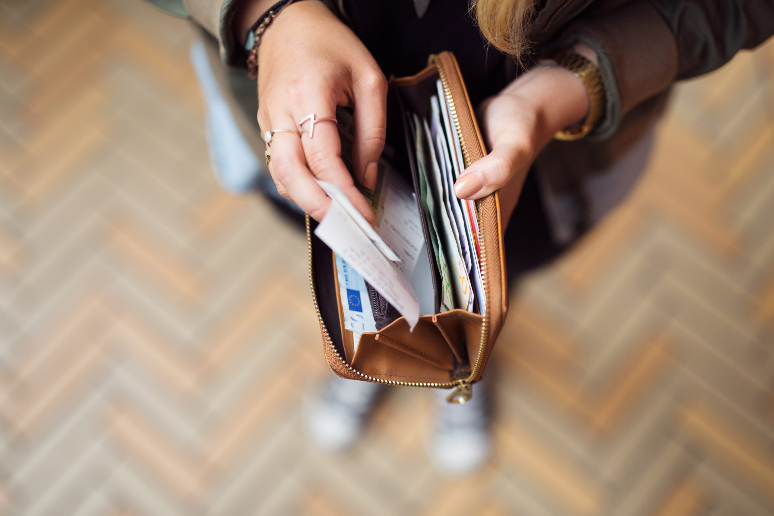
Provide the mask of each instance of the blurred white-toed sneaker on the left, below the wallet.
POLYGON ((334 376, 307 412, 310 439, 330 452, 341 452, 354 445, 382 388, 382 384, 334 376))

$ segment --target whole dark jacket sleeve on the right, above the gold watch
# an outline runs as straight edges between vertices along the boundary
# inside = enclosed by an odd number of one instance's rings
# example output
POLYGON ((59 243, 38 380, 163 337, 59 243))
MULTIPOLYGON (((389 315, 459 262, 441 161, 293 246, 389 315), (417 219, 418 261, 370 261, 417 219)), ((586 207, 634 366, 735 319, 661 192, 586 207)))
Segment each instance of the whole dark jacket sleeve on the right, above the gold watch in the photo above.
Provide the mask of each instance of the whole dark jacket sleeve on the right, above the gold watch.
POLYGON ((597 53, 607 111, 592 136, 608 138, 628 111, 675 80, 711 72, 772 34, 774 0, 631 0, 590 9, 559 43, 582 41, 597 53))

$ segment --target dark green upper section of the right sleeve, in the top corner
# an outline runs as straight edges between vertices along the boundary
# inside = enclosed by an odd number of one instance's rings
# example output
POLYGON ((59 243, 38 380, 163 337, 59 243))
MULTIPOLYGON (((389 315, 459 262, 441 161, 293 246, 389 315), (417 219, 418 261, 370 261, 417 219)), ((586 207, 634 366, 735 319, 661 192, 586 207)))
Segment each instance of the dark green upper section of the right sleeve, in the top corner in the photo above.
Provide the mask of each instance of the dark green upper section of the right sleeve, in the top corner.
POLYGON ((675 36, 678 79, 711 72, 774 35, 772 0, 649 0, 675 36))

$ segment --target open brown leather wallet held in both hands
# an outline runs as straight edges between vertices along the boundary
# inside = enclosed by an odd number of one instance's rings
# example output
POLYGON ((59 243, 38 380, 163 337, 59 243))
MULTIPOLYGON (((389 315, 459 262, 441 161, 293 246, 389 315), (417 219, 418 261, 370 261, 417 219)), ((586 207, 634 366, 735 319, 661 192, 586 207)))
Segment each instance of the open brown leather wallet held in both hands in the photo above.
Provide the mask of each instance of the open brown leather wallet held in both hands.
MULTIPOLYGON (((412 77, 391 78, 388 98, 388 142, 401 141, 411 147, 406 110, 426 113, 437 80, 444 87, 454 128, 461 142, 464 166, 486 154, 470 99, 450 52, 430 56, 430 65, 412 77), (396 135, 396 131, 402 135, 396 135)), ((411 151, 395 152, 396 169, 409 170, 418 191, 417 172, 411 151)), ((353 351, 352 333, 344 330, 341 297, 337 292, 334 254, 313 230, 317 223, 307 215, 309 277, 312 299, 323 337, 328 367, 342 378, 413 387, 454 388, 447 401, 464 403, 471 398, 471 384, 484 378, 492 347, 508 312, 508 288, 502 244, 502 221, 498 193, 475 201, 479 227, 481 279, 486 309, 480 313, 453 309, 420 316, 413 332, 403 317, 392 320, 375 333, 362 333, 353 351)), ((421 210, 420 210, 421 211, 421 210)), ((423 229, 427 235, 426 221, 423 229)), ((429 247, 429 246, 426 246, 429 247)), ((433 278, 433 281, 436 281, 433 278)), ((378 326, 377 326, 378 327, 378 326)))

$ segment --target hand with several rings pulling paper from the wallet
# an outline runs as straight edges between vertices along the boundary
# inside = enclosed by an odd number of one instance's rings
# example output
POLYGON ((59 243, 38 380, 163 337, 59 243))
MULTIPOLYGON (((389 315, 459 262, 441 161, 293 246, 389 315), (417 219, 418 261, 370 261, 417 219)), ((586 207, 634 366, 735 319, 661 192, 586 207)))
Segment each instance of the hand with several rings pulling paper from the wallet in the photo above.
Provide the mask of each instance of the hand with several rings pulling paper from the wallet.
MULTIPOLYGON (((261 133, 296 130, 296 122, 311 113, 317 118, 335 117, 337 106, 354 108, 354 174, 373 189, 375 163, 385 142, 387 81, 358 36, 323 2, 296 2, 264 32, 258 62, 261 133)), ((277 191, 310 217, 322 220, 330 205, 314 176, 335 183, 374 224, 371 207, 341 160, 341 141, 333 122, 317 123, 313 138, 276 133, 271 154, 269 172, 277 191)))

